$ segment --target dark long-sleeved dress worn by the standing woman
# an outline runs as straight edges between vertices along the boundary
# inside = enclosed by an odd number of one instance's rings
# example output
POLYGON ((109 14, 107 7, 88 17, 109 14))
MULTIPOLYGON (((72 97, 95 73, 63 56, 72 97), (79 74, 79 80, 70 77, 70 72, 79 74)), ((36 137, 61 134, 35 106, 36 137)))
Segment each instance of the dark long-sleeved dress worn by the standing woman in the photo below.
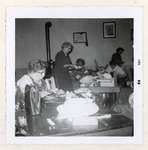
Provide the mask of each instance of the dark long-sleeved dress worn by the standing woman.
POLYGON ((69 55, 66 56, 63 51, 58 52, 55 57, 54 68, 56 86, 59 89, 71 91, 73 90, 72 80, 68 69, 64 68, 66 64, 72 64, 69 55))

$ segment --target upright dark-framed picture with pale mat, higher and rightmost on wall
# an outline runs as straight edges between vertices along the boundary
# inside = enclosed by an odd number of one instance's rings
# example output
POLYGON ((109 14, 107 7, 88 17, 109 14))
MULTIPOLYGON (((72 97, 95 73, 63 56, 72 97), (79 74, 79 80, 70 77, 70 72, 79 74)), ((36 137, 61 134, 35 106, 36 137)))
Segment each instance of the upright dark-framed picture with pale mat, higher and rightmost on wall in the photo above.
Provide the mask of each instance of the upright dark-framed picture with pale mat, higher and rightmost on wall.
POLYGON ((104 38, 115 38, 116 37, 116 23, 115 22, 104 22, 103 23, 103 37, 104 38))

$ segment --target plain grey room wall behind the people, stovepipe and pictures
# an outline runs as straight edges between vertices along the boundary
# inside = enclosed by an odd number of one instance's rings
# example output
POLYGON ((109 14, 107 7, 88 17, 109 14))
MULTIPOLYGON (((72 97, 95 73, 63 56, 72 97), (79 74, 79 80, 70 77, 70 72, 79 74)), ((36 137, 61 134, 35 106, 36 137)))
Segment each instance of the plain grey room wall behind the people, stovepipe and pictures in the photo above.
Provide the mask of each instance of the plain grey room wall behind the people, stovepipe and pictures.
POLYGON ((125 49, 123 60, 132 63, 131 28, 132 19, 17 19, 16 20, 16 68, 24 68, 30 59, 46 60, 45 22, 51 21, 51 56, 56 53, 64 41, 73 42, 73 32, 87 32, 88 46, 73 44, 71 54, 73 62, 78 57, 93 66, 96 59, 100 65, 109 62, 112 53, 119 46, 125 49), (103 22, 116 22, 116 38, 103 38, 103 22))

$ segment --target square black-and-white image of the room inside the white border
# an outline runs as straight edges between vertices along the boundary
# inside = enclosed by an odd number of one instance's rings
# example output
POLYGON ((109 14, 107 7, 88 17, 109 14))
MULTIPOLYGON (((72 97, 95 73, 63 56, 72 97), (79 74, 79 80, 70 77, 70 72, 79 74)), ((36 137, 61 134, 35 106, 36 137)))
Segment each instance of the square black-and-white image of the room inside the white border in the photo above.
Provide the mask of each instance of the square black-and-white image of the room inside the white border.
POLYGON ((134 19, 14 17, 14 138, 134 138, 134 19))

